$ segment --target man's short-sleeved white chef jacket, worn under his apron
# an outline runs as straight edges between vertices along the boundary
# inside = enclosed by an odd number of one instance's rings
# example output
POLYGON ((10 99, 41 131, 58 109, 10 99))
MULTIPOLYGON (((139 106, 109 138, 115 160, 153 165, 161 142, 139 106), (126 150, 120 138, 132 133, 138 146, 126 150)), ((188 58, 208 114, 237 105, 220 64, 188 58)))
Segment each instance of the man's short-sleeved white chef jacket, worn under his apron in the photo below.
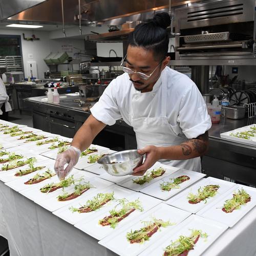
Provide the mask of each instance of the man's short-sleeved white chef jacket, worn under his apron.
MULTIPOLYGON (((210 117, 196 84, 186 75, 168 67, 162 71, 153 90, 146 93, 135 90, 128 74, 124 73, 118 76, 91 108, 91 113, 97 120, 108 125, 115 124, 116 120, 120 118, 132 125, 132 119, 159 117, 163 96, 162 80, 167 81, 166 117, 174 133, 178 137, 184 138, 185 141, 196 138, 209 130, 211 127, 210 117)), ((151 141, 152 137, 149 137, 148 145, 152 145, 151 141)), ((158 144, 156 143, 156 145, 158 144)), ((187 160, 175 162, 185 161, 187 160)), ((200 160, 198 159, 198 161, 200 160)))

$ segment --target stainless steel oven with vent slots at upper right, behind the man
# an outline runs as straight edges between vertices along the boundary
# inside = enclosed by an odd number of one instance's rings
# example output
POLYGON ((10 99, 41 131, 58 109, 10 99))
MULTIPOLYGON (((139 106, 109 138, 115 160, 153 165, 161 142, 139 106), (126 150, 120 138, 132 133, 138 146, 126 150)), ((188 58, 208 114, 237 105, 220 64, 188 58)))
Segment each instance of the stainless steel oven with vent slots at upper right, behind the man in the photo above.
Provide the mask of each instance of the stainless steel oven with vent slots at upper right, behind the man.
POLYGON ((255 2, 219 0, 176 9, 176 60, 255 59, 255 2))

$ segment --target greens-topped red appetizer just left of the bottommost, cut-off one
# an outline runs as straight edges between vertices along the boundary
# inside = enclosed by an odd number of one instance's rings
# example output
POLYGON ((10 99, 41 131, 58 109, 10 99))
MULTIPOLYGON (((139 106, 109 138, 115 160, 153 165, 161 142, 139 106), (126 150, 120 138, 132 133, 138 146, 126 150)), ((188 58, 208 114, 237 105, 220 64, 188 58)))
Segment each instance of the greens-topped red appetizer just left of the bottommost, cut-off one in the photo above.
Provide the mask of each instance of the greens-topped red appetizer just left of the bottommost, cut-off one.
POLYGON ((150 240, 153 234, 160 230, 161 227, 173 225, 169 221, 163 221, 156 218, 153 218, 152 221, 142 221, 142 223, 144 223, 144 227, 135 231, 131 230, 131 232, 127 232, 126 238, 131 244, 143 244, 145 241, 150 240))

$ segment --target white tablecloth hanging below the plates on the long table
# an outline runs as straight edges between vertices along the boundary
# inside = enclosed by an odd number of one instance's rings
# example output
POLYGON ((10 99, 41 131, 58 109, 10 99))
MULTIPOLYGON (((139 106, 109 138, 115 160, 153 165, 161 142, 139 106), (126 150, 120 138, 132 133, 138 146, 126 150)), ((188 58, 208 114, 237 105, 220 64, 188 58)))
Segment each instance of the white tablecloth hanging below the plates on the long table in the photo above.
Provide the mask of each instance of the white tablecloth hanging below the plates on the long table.
MULTIPOLYGON (((11 256, 116 255, 2 181, 0 198, 0 235, 8 239, 11 256)), ((255 237, 256 207, 202 255, 256 255, 255 237)))

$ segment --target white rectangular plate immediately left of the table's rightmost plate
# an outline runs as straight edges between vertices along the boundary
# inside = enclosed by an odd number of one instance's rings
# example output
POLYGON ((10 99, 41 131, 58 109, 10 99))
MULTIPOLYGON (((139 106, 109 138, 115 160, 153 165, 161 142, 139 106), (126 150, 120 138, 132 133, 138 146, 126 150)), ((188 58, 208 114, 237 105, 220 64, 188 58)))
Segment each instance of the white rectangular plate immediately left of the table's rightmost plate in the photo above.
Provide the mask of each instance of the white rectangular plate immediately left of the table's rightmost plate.
POLYGON ((187 210, 192 214, 195 214, 210 202, 218 200, 218 198, 220 198, 224 193, 226 193, 227 190, 229 190, 235 185, 236 184, 232 182, 208 177, 206 179, 201 179, 194 185, 191 185, 190 187, 184 189, 181 193, 179 193, 178 195, 166 201, 166 204, 173 205, 180 209, 187 210), (187 199, 188 194, 193 193, 194 195, 197 195, 198 189, 200 187, 203 188, 204 186, 207 186, 207 185, 219 185, 220 187, 218 189, 218 193, 214 197, 206 199, 206 202, 201 201, 200 203, 197 203, 197 204, 190 204, 187 199))

